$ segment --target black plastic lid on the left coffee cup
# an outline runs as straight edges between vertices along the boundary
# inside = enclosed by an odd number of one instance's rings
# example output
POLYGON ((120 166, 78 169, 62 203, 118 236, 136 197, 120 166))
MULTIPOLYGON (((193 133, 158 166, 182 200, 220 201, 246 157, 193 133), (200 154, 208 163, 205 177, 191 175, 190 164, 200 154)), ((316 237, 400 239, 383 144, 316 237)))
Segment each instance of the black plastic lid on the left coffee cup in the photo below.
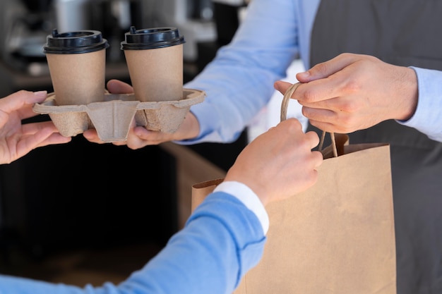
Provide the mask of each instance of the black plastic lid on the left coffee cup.
POLYGON ((100 31, 78 30, 76 32, 59 33, 56 29, 47 36, 47 43, 43 47, 44 53, 49 54, 76 54, 99 51, 109 47, 100 31))

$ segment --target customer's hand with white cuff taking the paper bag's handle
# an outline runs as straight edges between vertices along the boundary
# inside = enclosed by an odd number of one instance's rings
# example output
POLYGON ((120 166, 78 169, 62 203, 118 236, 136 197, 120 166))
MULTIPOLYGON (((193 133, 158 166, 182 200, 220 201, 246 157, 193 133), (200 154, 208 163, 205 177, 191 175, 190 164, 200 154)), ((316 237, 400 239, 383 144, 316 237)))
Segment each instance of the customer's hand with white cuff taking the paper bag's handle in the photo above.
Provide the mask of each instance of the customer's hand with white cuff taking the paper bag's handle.
POLYGON ((319 143, 289 118, 259 135, 239 154, 225 180, 249 186, 264 205, 296 195, 316 183, 323 155, 311 151, 319 143))

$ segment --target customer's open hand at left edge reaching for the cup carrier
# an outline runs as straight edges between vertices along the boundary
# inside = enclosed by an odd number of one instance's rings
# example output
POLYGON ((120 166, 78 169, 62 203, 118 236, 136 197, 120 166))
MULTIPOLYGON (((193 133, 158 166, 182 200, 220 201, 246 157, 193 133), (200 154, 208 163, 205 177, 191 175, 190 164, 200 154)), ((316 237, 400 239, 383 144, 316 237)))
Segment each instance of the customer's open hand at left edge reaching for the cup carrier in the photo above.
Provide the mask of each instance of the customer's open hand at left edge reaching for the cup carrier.
POLYGON ((10 164, 37 147, 71 141, 59 134, 52 121, 22 123, 37 115, 32 106, 46 97, 46 91, 21 90, 0 99, 0 164, 10 164))

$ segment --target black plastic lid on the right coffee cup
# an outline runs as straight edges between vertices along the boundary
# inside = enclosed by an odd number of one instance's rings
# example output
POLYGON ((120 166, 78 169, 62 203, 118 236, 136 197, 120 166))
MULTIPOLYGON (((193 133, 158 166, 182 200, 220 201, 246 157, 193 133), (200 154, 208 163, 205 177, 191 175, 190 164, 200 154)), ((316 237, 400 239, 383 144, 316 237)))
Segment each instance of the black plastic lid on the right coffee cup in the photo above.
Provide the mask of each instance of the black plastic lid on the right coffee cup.
POLYGON ((176 27, 153 27, 136 30, 135 27, 131 26, 124 37, 125 40, 121 42, 121 50, 156 49, 186 42, 184 37, 179 35, 176 27))

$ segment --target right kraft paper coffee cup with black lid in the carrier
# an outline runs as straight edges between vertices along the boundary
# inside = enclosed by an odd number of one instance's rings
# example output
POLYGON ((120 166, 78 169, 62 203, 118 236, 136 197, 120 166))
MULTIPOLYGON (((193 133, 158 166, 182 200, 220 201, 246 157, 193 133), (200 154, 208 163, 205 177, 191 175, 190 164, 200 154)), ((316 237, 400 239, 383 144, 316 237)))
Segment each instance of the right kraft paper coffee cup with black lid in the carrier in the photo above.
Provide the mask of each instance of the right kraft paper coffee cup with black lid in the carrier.
POLYGON ((176 101, 183 95, 184 37, 175 27, 136 30, 121 42, 138 101, 176 101))

